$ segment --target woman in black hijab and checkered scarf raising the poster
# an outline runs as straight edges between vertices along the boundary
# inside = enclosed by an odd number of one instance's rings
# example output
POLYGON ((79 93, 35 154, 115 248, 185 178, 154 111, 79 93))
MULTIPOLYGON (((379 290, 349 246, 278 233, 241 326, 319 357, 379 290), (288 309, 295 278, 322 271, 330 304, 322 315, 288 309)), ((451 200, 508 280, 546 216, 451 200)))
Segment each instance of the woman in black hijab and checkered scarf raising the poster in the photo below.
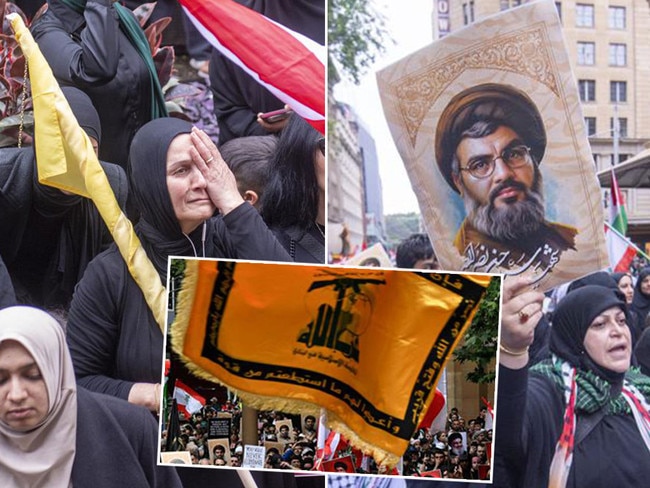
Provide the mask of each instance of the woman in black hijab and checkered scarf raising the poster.
POLYGON ((650 378, 630 368, 624 300, 596 285, 569 293, 554 315, 552 358, 529 370, 541 299, 528 285, 504 287, 498 401, 507 420, 497 427, 497 451, 506 459, 495 479, 527 488, 644 485, 650 378))

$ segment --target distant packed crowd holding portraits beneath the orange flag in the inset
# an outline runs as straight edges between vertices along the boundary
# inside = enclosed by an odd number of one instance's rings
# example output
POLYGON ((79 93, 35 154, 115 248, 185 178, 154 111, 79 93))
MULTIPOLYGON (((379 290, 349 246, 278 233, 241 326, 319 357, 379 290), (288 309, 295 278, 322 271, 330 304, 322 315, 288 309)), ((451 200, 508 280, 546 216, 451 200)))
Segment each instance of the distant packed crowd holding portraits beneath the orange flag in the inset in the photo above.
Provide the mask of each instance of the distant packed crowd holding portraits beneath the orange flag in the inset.
MULTIPOLYGON (((479 480, 489 477, 491 463, 492 429, 486 429, 487 409, 481 408, 475 418, 465 419, 457 408, 452 408, 444 430, 432 432, 419 429, 402 457, 400 471, 386 470, 371 457, 351 448, 347 442, 342 447, 324 455, 319 451, 318 422, 313 415, 295 415, 280 411, 257 413, 257 443, 265 447, 264 467, 280 470, 323 469, 323 462, 351 457, 352 470, 357 474, 400 474, 404 476, 439 477, 449 479, 479 480), (320 462, 319 462, 320 461, 320 462)), ((242 409, 238 401, 220 402, 211 398, 198 411, 185 417, 180 413, 180 430, 174 435, 168 429, 161 436, 161 450, 187 451, 192 464, 238 467, 242 465, 244 446, 241 438, 242 409), (224 443, 212 449, 209 440, 210 420, 217 417, 230 419, 229 432, 221 432, 224 443), (227 435, 227 437, 226 437, 227 435), (216 454, 215 449, 220 450, 216 454)), ((324 447, 325 439, 320 443, 324 447)), ((347 465, 346 470, 349 469, 347 465)))

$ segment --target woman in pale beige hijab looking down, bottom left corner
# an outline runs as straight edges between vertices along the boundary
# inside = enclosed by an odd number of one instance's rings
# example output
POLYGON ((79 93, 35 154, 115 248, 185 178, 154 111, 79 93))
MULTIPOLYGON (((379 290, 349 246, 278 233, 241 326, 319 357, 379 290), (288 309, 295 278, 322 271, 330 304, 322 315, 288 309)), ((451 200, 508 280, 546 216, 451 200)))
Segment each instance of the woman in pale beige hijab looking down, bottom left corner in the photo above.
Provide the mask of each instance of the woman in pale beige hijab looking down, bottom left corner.
POLYGON ((144 408, 77 388, 50 315, 0 310, 0 486, 181 486, 156 466, 156 427, 144 408))

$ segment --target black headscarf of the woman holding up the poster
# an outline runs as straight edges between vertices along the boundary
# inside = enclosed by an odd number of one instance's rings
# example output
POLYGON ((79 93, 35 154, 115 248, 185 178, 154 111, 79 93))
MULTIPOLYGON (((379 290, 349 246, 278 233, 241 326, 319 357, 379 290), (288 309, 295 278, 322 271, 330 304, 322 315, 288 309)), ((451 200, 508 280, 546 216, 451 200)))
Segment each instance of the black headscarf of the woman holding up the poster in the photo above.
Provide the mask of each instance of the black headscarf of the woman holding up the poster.
POLYGON ((553 316, 550 349, 576 368, 593 371, 610 383, 619 383, 625 373, 615 373, 597 365, 584 347, 591 322, 612 307, 626 309, 625 300, 612 288, 586 285, 567 294, 553 316))

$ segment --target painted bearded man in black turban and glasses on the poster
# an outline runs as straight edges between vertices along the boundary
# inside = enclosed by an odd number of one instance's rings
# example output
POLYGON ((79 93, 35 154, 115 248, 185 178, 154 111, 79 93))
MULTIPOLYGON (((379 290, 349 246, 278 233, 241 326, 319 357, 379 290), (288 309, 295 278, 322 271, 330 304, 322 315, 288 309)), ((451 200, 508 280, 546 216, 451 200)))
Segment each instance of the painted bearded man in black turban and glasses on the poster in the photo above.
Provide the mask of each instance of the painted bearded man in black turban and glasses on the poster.
POLYGON ((519 90, 483 84, 449 102, 435 151, 442 175, 465 203, 454 240, 465 268, 551 269, 563 251, 575 249, 577 229, 545 219, 539 170, 545 149, 541 115, 519 90))

